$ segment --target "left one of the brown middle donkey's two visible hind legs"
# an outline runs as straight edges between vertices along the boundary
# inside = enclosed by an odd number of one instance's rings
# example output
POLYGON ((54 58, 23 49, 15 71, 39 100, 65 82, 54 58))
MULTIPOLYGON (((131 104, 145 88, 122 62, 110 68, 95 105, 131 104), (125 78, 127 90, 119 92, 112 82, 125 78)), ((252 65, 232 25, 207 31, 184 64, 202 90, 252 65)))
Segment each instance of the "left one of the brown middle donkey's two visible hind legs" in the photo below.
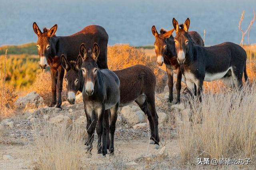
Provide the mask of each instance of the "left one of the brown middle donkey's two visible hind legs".
POLYGON ((145 113, 145 115, 147 115, 148 117, 148 121, 149 121, 149 125, 150 125, 150 133, 151 133, 151 137, 150 137, 150 144, 154 144, 154 139, 155 139, 155 133, 154 133, 154 121, 152 120, 152 115, 151 112, 148 108, 148 104, 146 102, 146 98, 144 95, 141 95, 140 97, 138 97, 135 102, 138 104, 138 106, 140 107, 140 109, 145 113))

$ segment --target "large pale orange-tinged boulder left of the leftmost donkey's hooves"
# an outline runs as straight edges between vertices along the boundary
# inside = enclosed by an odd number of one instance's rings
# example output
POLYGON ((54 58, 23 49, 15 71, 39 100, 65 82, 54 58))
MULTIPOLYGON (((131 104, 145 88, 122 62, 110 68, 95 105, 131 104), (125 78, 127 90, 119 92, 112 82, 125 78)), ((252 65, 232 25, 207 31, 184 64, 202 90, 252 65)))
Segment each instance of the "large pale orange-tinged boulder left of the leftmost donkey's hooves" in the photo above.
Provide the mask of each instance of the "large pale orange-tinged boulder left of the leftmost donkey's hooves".
POLYGON ((24 97, 20 97, 14 103, 16 109, 34 109, 42 106, 44 106, 44 100, 36 92, 31 92, 24 97))

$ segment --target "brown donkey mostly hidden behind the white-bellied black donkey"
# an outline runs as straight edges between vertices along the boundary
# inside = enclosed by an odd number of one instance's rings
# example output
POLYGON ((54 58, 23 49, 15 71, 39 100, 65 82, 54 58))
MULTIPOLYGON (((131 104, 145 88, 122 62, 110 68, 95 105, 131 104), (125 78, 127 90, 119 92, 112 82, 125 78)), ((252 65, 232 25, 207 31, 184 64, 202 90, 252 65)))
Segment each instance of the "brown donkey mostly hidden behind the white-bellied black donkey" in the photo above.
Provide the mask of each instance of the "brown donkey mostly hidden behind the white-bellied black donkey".
MULTIPOLYGON (((167 99, 167 102, 172 102, 173 100, 173 70, 177 70, 177 103, 180 103, 182 73, 180 71, 180 64, 178 64, 177 61, 174 37, 172 36, 173 31, 174 29, 171 29, 170 31, 161 29, 159 34, 155 25, 152 26, 152 34, 155 37, 154 48, 157 56, 156 63, 158 66, 165 64, 166 72, 168 74, 169 98, 167 99)), ((190 31, 188 34, 192 37, 195 44, 204 46, 204 41, 199 33, 190 31)))

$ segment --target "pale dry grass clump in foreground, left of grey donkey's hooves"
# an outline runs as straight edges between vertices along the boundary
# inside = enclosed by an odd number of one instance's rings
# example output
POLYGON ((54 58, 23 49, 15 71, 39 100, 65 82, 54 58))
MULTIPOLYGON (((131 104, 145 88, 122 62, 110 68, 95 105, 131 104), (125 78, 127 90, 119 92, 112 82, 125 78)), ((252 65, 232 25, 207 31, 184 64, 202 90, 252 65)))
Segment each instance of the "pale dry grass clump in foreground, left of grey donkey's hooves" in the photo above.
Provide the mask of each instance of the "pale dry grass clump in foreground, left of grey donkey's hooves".
POLYGON ((42 127, 36 127, 38 159, 35 162, 35 169, 80 169, 81 158, 85 154, 82 149, 84 132, 84 128, 74 124, 67 126, 66 123, 58 126, 42 123, 42 127))

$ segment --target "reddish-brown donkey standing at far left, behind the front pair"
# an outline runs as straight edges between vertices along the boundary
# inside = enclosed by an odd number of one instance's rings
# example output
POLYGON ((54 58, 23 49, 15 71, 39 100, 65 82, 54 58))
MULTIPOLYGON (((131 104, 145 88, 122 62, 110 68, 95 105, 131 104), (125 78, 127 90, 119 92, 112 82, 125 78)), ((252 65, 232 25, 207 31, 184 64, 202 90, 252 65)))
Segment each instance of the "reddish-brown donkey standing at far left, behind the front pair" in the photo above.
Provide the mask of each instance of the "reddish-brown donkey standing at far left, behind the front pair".
POLYGON ((44 28, 42 32, 34 22, 33 29, 38 36, 37 48, 38 55, 40 56, 39 66, 42 69, 45 69, 47 64, 50 66, 52 76, 52 100, 50 107, 56 104, 56 93, 58 98, 56 107, 61 107, 62 104, 61 92, 64 77, 64 69, 60 64, 60 56, 62 54, 68 56, 68 61, 75 60, 78 56, 77 49, 80 47, 81 43, 85 43, 87 47, 92 48, 93 43, 96 42, 101 49, 97 62, 98 67, 108 68, 108 34, 103 27, 89 25, 84 27, 81 31, 65 37, 57 37, 55 35, 57 24, 51 29, 44 28))

